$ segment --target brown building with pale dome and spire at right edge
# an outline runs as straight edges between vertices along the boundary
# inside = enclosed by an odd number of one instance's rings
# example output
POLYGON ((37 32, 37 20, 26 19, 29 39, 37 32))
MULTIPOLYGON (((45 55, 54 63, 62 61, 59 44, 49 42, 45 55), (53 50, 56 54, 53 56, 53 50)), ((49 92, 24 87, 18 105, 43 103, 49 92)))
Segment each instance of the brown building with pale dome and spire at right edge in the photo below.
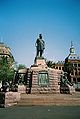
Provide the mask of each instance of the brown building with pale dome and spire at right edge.
POLYGON ((80 83, 80 56, 75 53, 75 48, 72 42, 70 53, 65 59, 64 71, 68 72, 68 79, 71 83, 80 83))

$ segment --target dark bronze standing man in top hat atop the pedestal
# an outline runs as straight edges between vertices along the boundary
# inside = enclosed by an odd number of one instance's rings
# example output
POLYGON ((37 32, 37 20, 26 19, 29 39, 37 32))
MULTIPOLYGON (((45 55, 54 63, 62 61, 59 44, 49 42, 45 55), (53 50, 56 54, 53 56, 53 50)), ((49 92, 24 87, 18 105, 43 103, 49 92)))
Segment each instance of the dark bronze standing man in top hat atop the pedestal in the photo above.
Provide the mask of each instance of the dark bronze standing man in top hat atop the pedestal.
POLYGON ((42 57, 43 51, 45 49, 45 42, 42 39, 41 34, 39 34, 39 38, 36 40, 36 49, 37 49, 36 57, 42 57))

